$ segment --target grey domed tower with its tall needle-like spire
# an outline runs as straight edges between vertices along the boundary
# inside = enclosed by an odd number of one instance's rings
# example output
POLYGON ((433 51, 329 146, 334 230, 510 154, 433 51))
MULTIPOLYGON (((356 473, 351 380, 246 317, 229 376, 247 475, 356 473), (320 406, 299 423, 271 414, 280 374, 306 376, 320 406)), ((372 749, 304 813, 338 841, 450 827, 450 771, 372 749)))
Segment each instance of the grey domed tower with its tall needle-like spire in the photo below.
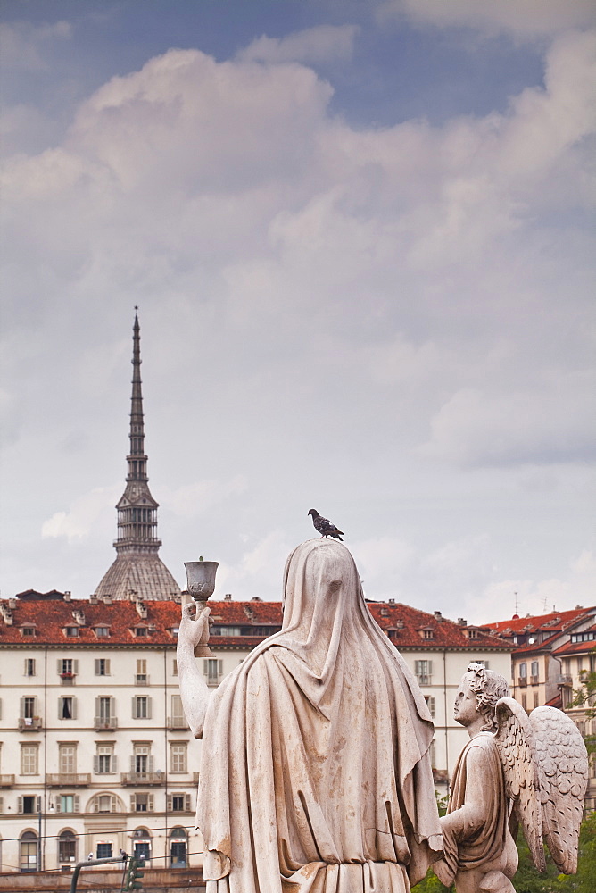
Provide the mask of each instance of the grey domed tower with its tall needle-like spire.
POLYGON ((173 598, 179 596, 178 583, 157 554, 157 508, 147 483, 143 393, 141 389, 141 333, 135 307, 132 336, 132 398, 130 403, 130 449, 126 488, 116 505, 118 555, 95 589, 96 596, 112 598, 173 598))

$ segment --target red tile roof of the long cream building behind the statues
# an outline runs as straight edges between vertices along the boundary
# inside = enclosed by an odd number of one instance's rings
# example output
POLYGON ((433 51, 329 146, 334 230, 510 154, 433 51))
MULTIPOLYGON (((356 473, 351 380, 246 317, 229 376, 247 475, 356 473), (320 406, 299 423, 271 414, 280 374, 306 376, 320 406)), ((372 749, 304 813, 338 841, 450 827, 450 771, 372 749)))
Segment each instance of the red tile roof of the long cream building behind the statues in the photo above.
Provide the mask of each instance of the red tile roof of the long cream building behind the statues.
MULTIPOLYGON (((46 600, 40 594, 27 592, 23 600, 11 599, 2 602, 0 613, 0 647, 15 645, 36 647, 162 647, 174 646, 176 638, 171 630, 178 626, 180 605, 174 601, 145 601, 146 618, 139 615, 135 602, 102 601, 92 604, 88 599, 56 600, 54 592, 46 600), (11 606, 13 605, 13 606, 11 606), (75 612, 82 611, 85 622, 79 625, 75 612), (12 624, 5 622, 6 613, 12 615, 12 624), (23 636, 23 626, 36 626, 34 637, 23 636), (79 636, 67 637, 64 628, 78 626, 79 636), (108 626, 109 637, 98 638, 95 626, 108 626), (149 628, 149 634, 137 637, 135 628, 149 628)), ((281 626, 282 611, 280 602, 239 602, 210 601, 211 621, 218 626, 243 626, 277 628, 281 626)), ((382 630, 398 648, 461 648, 468 651, 490 648, 510 651, 511 644, 485 630, 464 627, 440 615, 418 611, 410 605, 396 603, 369 602, 368 608, 382 630), (476 638, 468 638, 473 630, 476 638), (432 638, 422 638, 420 630, 430 630, 432 638)), ((143 612, 145 613, 145 611, 143 612)), ((263 636, 211 637, 211 644, 219 647, 253 647, 263 636)))

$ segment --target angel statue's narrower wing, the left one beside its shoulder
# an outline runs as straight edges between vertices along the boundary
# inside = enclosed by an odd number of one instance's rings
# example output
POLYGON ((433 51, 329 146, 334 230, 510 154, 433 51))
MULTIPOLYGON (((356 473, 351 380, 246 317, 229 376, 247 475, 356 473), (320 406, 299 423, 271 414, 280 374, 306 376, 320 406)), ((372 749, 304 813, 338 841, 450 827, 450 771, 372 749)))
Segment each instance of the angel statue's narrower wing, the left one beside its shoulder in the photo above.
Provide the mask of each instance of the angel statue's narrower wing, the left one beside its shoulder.
POLYGON ((499 730, 494 739, 501 755, 505 790, 524 829, 534 865, 543 872, 546 862, 542 847, 542 805, 532 728, 526 711, 512 697, 501 697, 496 715, 499 730))

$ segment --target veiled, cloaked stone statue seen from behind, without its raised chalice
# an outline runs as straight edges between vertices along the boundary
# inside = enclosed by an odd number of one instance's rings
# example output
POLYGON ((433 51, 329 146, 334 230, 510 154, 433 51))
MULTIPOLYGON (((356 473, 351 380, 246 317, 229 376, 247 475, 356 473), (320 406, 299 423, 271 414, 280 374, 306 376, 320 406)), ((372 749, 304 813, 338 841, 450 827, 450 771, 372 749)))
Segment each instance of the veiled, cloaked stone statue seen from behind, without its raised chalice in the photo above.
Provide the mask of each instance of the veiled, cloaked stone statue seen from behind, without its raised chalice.
POLYGON ((178 673, 203 738, 207 893, 408 893, 442 850, 433 723, 346 547, 294 549, 282 630, 211 693, 193 657, 208 609, 192 611, 178 673))

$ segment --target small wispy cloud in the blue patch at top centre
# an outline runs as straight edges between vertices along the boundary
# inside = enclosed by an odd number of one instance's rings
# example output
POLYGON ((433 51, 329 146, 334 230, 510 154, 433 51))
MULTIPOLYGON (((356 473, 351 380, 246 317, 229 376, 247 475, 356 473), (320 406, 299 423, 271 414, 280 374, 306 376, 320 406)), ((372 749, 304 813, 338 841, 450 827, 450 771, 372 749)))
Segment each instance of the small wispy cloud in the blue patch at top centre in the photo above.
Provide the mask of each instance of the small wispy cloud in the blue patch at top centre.
POLYGON ((241 50, 236 58, 242 62, 325 63, 334 59, 351 59, 357 25, 318 25, 296 31, 284 38, 261 35, 241 50))

